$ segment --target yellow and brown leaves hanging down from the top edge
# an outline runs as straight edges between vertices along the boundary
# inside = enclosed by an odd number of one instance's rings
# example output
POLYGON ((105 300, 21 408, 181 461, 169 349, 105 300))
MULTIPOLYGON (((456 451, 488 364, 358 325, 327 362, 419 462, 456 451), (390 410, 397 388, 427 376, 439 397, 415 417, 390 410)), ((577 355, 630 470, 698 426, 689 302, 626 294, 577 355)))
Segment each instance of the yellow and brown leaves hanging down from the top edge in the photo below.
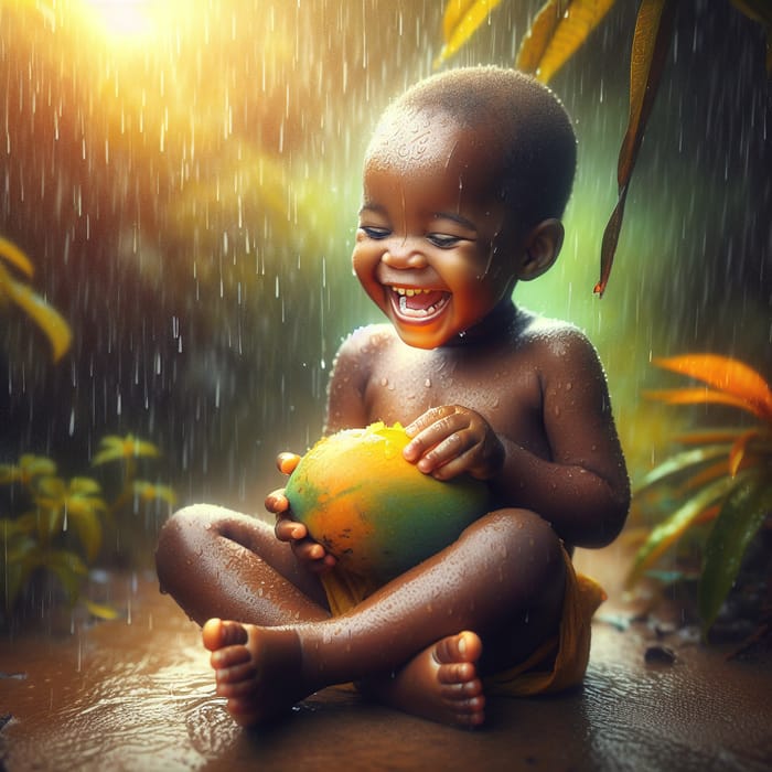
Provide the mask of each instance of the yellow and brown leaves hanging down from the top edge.
MULTIPOLYGON (((523 39, 515 66, 543 83, 587 41, 616 0, 547 0, 523 39)), ((731 0, 766 32, 766 72, 772 74, 772 3, 769 0, 731 0)), ((435 66, 451 58, 490 19, 501 0, 448 0, 442 19, 444 44, 435 66)), ((622 229, 624 204, 643 135, 656 98, 673 37, 677 0, 641 0, 630 55, 630 112, 616 168, 619 197, 603 232, 600 278, 594 291, 602 296, 611 274, 622 229)))

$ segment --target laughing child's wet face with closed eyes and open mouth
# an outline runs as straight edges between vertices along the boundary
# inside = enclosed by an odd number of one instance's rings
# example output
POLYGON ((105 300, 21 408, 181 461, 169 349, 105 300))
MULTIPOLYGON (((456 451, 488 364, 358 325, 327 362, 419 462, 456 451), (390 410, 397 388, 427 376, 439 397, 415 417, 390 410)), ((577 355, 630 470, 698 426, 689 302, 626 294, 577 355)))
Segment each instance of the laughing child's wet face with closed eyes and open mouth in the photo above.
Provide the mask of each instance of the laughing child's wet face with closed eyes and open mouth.
POLYGON ((517 244, 490 139, 419 116, 372 146, 354 270, 408 345, 452 342, 514 288, 517 244))

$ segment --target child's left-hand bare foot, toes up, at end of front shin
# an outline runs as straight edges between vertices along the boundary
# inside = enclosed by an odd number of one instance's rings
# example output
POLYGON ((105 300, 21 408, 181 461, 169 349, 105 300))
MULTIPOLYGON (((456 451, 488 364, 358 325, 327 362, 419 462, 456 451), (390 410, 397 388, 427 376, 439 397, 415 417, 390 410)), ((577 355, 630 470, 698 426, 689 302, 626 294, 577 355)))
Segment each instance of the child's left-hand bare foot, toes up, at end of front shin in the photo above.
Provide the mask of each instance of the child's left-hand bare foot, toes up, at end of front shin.
POLYGON ((314 691, 301 673, 298 636, 289 631, 211 619, 203 629, 216 693, 243 727, 272 718, 314 691))

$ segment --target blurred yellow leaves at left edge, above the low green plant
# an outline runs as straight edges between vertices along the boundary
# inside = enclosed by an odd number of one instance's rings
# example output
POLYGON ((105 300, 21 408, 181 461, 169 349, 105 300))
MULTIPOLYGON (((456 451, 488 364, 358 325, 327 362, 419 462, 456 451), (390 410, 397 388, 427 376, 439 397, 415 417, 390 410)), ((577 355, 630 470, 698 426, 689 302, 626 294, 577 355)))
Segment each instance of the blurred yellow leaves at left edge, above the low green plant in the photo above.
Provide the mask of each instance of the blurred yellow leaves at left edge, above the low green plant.
MULTIPOLYGON (((32 279, 34 267, 30 258, 12 242, 0 236, 0 258, 32 279)), ((45 333, 52 349, 54 362, 61 360, 69 349, 73 334, 69 325, 54 308, 28 285, 13 278, 0 261, 0 305, 13 302, 45 333)))

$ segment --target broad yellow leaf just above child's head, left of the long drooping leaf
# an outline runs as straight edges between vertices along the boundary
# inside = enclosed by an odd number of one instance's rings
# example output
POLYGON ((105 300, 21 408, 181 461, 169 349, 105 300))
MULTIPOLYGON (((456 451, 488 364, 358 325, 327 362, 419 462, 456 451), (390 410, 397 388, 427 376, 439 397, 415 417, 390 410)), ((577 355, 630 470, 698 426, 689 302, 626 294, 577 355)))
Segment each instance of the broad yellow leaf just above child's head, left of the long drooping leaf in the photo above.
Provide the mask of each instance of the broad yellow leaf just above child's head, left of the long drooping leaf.
POLYGON ((523 39, 515 66, 534 73, 542 83, 549 83, 615 1, 548 0, 523 39))

